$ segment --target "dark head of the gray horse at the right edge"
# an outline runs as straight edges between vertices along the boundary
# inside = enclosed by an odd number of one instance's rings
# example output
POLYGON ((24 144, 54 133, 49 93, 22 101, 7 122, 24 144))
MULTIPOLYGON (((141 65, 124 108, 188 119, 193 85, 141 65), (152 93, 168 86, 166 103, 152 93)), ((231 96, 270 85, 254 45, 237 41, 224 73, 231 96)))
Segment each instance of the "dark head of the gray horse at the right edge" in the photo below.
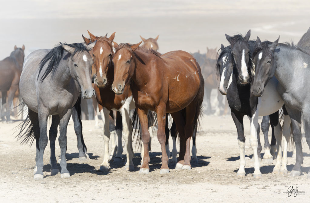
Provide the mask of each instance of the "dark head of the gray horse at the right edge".
POLYGON ((264 87, 276 72, 277 62, 274 59, 274 51, 278 41, 279 39, 272 44, 265 44, 265 48, 256 53, 253 59, 255 64, 255 77, 251 85, 251 92, 257 97, 263 95, 264 87))

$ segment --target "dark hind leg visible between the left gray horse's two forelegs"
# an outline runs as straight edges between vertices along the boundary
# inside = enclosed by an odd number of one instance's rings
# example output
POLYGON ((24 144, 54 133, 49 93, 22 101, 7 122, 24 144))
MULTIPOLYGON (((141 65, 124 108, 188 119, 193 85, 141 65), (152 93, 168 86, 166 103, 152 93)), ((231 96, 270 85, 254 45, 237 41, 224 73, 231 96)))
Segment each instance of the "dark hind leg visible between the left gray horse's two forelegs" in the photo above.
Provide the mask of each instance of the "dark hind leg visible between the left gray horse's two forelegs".
POLYGON ((57 137, 57 127, 59 125, 59 122, 60 122, 59 115, 53 115, 52 116, 51 128, 49 130, 50 147, 51 147, 50 164, 51 164, 51 175, 52 176, 59 173, 59 169, 57 167, 56 156, 55 156, 55 141, 56 141, 56 137, 57 137))

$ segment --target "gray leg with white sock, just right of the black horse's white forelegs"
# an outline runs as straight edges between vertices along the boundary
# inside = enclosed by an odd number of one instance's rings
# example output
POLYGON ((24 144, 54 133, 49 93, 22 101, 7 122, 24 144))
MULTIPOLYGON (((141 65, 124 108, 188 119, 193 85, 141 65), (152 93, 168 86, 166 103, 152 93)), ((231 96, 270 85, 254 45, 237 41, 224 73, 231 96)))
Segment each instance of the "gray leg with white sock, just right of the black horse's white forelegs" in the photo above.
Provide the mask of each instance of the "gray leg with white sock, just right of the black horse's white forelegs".
POLYGON ((264 164, 272 164, 272 159, 273 159, 273 156, 270 153, 271 147, 270 147, 269 140, 268 140, 268 131, 269 131, 269 126, 270 126, 269 120, 270 120, 269 116, 263 116, 263 120, 260 123, 260 127, 263 131, 264 141, 265 141, 265 144, 264 144, 265 153, 263 155, 264 164))

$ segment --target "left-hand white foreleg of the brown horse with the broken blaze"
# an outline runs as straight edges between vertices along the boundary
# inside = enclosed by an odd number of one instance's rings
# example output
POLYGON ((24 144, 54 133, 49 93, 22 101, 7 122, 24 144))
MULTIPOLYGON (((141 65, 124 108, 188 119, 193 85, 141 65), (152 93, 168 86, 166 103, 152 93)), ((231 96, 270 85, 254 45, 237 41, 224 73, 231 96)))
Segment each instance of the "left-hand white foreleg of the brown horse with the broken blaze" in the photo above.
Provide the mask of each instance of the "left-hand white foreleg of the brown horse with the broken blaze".
POLYGON ((99 105, 100 115, 102 118, 103 128, 103 140, 104 140, 104 157, 103 162, 100 165, 100 171, 108 171, 109 170, 109 141, 110 141, 110 130, 109 130, 109 113, 110 111, 99 105))

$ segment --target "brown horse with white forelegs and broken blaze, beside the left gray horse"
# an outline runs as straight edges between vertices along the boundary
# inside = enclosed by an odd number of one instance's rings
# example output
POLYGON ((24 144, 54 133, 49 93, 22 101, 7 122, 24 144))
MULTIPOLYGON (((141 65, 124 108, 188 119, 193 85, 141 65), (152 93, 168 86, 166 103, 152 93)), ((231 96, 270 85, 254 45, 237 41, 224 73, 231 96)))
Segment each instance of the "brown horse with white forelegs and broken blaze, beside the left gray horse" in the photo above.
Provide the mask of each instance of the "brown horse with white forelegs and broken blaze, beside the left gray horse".
MULTIPOLYGON (((132 162, 133 158, 133 148, 131 141, 131 122, 129 118, 129 110, 135 108, 134 102, 132 101, 132 94, 129 85, 124 88, 123 95, 116 95, 112 89, 111 84, 114 78, 114 66, 112 63, 112 57, 114 56, 112 41, 114 39, 115 32, 109 37, 97 37, 88 32, 91 41, 97 40, 97 46, 93 48, 93 60, 95 67, 95 94, 96 99, 99 104, 99 111, 104 124, 104 160, 100 166, 100 170, 106 171, 109 168, 109 153, 108 144, 110 140, 110 127, 113 123, 109 123, 109 113, 111 110, 117 110, 122 115, 122 133, 116 130, 118 136, 118 147, 117 155, 114 158, 120 158, 122 160, 122 136, 126 142, 126 163, 125 170, 133 170, 134 164, 132 162)), ((117 118, 119 118, 117 116, 117 118)))

